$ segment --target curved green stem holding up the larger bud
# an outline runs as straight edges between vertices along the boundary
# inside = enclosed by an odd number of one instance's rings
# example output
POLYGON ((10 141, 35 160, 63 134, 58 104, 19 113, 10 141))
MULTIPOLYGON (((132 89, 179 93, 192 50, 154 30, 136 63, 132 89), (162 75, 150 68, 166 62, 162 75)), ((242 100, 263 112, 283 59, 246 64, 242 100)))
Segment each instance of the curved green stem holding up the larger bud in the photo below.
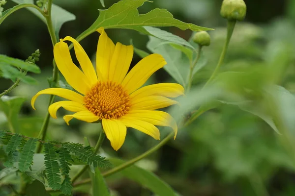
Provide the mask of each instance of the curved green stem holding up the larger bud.
POLYGON ((218 61, 218 64, 214 70, 214 72, 211 74, 210 78, 208 79, 208 81, 206 82, 206 84, 204 85, 204 87, 207 86, 207 84, 209 84, 213 79, 214 77, 216 76, 216 74, 218 73, 219 71, 219 68, 221 67, 221 65, 223 64, 223 61, 224 61, 224 58, 225 58, 225 55, 226 55, 226 52, 229 48, 229 43, 231 41, 231 37, 233 35, 233 32, 234 32, 234 29, 235 29, 235 25, 236 25, 236 20, 228 20, 228 24, 227 24, 227 37, 226 37, 226 42, 224 44, 224 47, 223 47, 223 50, 221 52, 221 55, 220 55, 220 58, 219 58, 219 61, 218 61))

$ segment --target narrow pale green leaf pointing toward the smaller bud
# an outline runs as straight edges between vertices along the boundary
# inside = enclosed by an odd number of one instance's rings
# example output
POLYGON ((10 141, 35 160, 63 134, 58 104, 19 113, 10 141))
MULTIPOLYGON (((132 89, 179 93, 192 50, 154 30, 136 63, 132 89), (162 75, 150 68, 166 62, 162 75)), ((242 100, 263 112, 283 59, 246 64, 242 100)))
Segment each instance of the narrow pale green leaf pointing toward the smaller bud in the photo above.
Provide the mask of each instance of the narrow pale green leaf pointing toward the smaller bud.
POLYGON ((153 35, 154 37, 160 38, 162 40, 166 40, 172 43, 176 43, 179 45, 187 46, 191 49, 195 49, 190 43, 188 43, 185 39, 178 37, 177 35, 174 35, 170 32, 167 32, 165 30, 155 28, 152 26, 145 26, 144 27, 150 35, 153 35))

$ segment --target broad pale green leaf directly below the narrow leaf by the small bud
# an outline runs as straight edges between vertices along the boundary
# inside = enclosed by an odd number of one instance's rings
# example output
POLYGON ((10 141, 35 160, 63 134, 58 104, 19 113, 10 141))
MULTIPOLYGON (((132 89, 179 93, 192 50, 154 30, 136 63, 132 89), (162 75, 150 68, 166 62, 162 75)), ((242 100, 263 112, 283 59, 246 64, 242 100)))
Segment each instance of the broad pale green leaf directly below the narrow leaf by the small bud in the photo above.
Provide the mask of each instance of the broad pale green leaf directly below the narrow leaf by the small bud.
POLYGON ((161 54, 167 61, 164 69, 182 86, 186 86, 189 73, 189 60, 181 51, 175 49, 167 42, 152 36, 149 36, 147 48, 153 52, 161 54))

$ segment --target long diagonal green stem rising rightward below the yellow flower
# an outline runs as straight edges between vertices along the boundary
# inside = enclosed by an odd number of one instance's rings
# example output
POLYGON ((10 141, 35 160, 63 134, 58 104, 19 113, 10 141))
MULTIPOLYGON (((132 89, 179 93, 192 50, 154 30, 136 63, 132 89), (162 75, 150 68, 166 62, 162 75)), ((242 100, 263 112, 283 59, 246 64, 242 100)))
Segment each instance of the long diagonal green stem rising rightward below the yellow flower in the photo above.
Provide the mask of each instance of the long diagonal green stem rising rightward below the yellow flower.
MULTIPOLYGON (((173 136, 174 136, 174 132, 171 132, 169 135, 167 135, 167 136, 164 138, 164 140, 162 140, 162 141, 161 141, 159 144, 157 144, 156 146, 150 148, 150 149, 149 149, 148 151, 146 151, 145 153, 143 153, 143 154, 141 154, 141 155, 139 155, 139 156, 137 156, 137 157, 135 157, 135 158, 133 158, 133 159, 131 159, 131 160, 129 160, 129 161, 127 161, 127 162, 125 162, 125 163, 123 163, 123 164, 121 164, 121 165, 119 165, 119 166, 117 166, 117 167, 115 167, 115 168, 113 168, 113 169, 107 171, 107 172, 102 173, 102 176, 103 176, 103 177, 110 176, 110 175, 112 175, 112 174, 114 174, 114 173, 117 173, 117 172, 119 172, 119 171, 121 171, 121 170, 123 170, 123 169, 125 169, 125 168, 127 168, 127 167, 129 167, 129 166, 131 166, 131 165, 133 165, 134 163, 136 163, 136 162, 138 162, 139 160, 141 160, 141 159, 147 157, 148 155, 150 155, 151 153, 153 153, 154 151, 158 150, 160 147, 162 147, 163 145, 165 145, 170 139, 173 138, 173 136)), ((90 178, 89 178, 89 179, 82 180, 82 181, 80 181, 80 182, 78 182, 78 183, 75 183, 73 186, 76 187, 76 186, 80 186, 80 185, 83 185, 83 184, 87 184, 87 183, 89 183, 89 182, 91 182, 91 179, 90 179, 90 178)))

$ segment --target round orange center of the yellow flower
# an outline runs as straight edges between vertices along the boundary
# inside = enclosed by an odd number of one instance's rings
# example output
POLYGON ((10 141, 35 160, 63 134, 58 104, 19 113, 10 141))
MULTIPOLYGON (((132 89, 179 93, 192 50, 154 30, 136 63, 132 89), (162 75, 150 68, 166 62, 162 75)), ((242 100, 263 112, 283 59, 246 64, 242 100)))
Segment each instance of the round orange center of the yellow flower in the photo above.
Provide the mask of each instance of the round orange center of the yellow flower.
POLYGON ((117 119, 127 113, 130 98, 122 85, 116 82, 97 82, 84 97, 89 111, 102 119, 117 119))

